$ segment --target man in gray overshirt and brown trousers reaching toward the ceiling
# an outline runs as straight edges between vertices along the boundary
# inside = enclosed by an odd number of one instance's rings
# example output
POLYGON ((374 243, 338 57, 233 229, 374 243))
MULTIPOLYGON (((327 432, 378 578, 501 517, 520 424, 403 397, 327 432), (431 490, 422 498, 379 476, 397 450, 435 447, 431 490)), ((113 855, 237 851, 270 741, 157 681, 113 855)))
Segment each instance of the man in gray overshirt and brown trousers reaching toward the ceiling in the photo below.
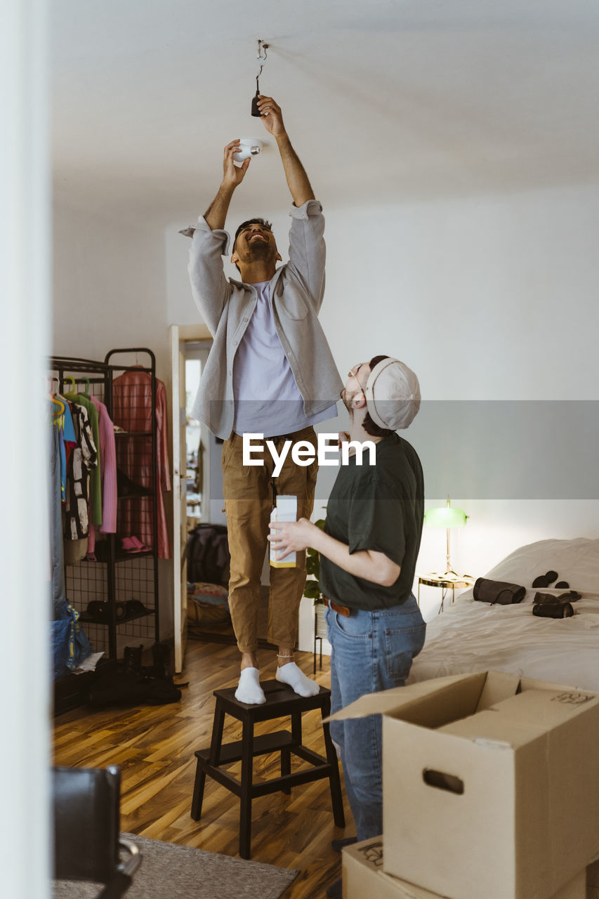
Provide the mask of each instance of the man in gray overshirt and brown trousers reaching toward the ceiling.
MULTIPOLYGON (((312 425, 335 416, 342 386, 317 318, 325 289, 322 208, 291 147, 280 107, 261 95, 258 108, 264 127, 276 140, 293 198, 289 263, 276 268, 281 255, 271 227, 263 218, 252 218, 237 228, 233 243, 231 262, 241 280, 225 277, 221 260, 228 252, 225 219, 250 163, 246 159, 235 165, 237 139, 225 147, 223 181, 205 216, 198 219, 189 264, 193 298, 214 336, 192 416, 225 441, 228 602, 242 654, 236 698, 250 704, 265 701, 255 653, 273 494, 297 496, 298 515, 309 518, 317 462, 299 467, 289 453, 273 477, 273 458, 266 449, 264 466, 243 465, 242 437, 261 433, 279 452, 289 439, 316 446, 312 425)), ((255 439, 252 444, 257 445, 255 439)), ((278 646, 277 680, 301 696, 313 696, 318 684, 293 662, 305 581, 305 554, 298 556, 296 567, 271 569, 268 639, 278 646)))

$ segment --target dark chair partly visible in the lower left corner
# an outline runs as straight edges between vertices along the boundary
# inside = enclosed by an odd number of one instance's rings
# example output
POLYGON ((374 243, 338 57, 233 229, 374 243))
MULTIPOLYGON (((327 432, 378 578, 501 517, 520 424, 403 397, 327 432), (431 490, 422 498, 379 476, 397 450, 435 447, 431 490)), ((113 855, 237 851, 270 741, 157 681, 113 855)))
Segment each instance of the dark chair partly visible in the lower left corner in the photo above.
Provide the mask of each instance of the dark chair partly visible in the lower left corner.
POLYGON ((141 861, 135 843, 121 840, 121 770, 54 768, 54 877, 103 884, 97 899, 118 899, 141 861), (129 858, 121 861, 120 849, 129 858))

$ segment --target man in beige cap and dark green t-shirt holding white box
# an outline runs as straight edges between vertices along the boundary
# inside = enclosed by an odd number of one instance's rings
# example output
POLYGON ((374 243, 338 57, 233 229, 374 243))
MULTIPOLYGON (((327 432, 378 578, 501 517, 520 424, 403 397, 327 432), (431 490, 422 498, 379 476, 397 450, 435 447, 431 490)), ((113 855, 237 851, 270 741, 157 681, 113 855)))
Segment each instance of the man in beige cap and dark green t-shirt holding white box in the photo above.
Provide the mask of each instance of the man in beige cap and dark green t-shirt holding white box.
MULTIPOLYGON (((376 356, 351 369, 342 392, 351 441, 372 441, 376 463, 350 456, 339 468, 324 532, 310 521, 272 524, 279 558, 305 547, 320 553, 332 646, 335 712, 365 693, 403 686, 425 642, 412 593, 424 517, 424 481, 416 450, 396 431, 420 406, 418 379, 403 362, 376 356)), ((357 839, 382 832, 381 720, 331 723, 341 749, 357 839)), ((338 895, 332 893, 331 895, 338 895)))

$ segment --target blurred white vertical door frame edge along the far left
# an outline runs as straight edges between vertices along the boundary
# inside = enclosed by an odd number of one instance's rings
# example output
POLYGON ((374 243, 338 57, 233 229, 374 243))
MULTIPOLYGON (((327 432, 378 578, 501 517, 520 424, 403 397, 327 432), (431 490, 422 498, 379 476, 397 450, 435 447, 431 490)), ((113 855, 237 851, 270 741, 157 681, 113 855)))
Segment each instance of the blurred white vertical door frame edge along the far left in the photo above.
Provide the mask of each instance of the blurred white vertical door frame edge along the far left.
POLYGON ((48 22, 45 0, 0 10, 0 895, 11 899, 50 895, 48 22))

